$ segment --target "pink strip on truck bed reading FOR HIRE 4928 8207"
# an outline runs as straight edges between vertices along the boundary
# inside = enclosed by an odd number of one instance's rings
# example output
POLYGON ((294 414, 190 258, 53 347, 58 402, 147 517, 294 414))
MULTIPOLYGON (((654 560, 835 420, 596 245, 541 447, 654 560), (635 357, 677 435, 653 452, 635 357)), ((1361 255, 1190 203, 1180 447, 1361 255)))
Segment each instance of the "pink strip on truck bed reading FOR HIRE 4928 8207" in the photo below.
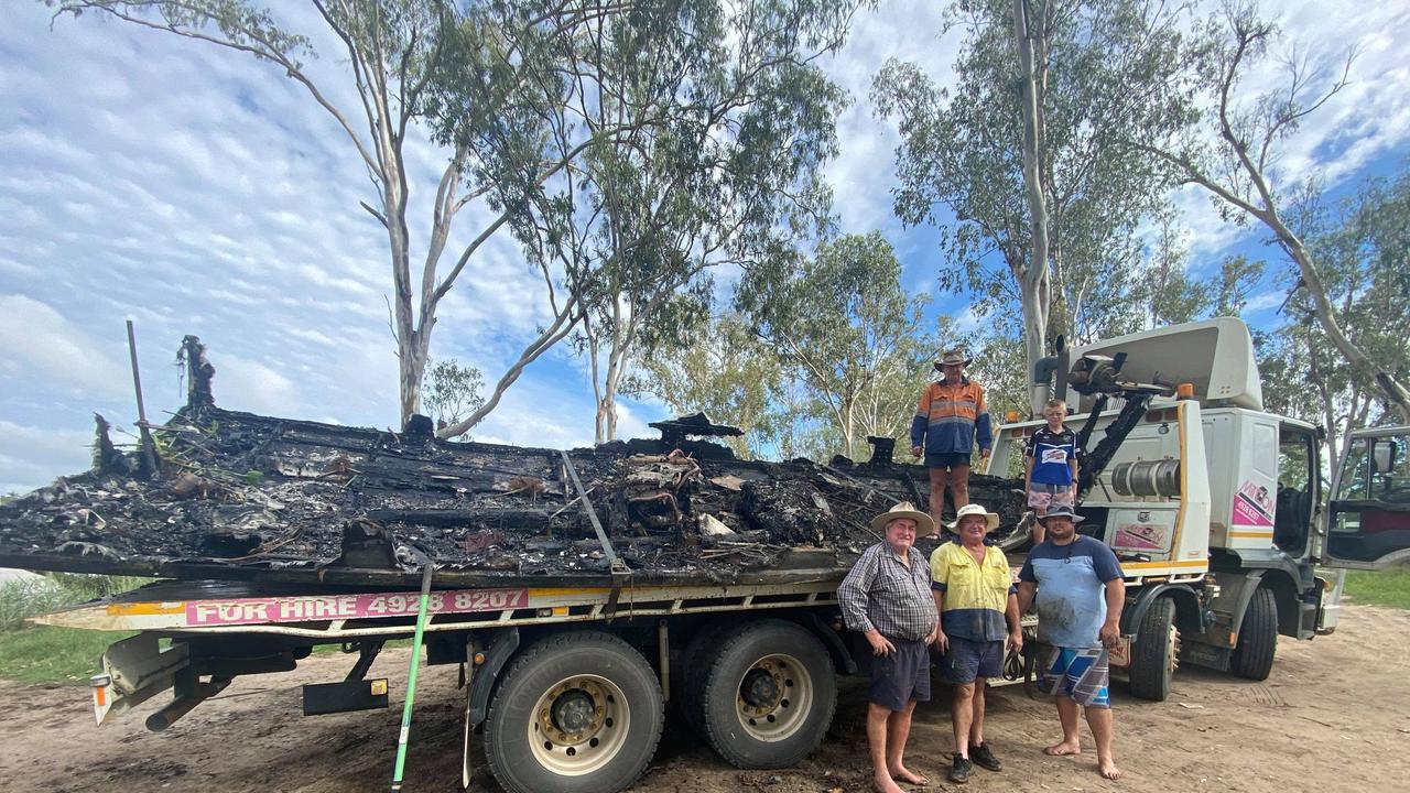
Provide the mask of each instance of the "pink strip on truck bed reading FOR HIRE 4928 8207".
MULTIPOLYGON (((427 614, 471 614, 529 605, 529 590, 450 590, 427 600, 427 614)), ((319 622, 415 617, 420 593, 345 595, 250 597, 186 603, 186 625, 257 625, 261 622, 319 622)))

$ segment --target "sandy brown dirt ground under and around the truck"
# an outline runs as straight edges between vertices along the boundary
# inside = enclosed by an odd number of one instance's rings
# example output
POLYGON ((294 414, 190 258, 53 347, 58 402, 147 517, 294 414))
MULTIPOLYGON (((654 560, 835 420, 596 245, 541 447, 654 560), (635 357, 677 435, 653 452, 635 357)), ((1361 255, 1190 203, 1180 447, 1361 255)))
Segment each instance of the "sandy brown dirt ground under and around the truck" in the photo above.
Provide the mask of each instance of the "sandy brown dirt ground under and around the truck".
MULTIPOLYGON (((1115 683, 1117 761, 1125 777, 1097 777, 1096 751, 1048 758, 1058 738, 1050 703, 1022 687, 988 693, 987 737, 1001 773, 974 770, 967 790, 1404 790, 1410 782, 1410 611, 1348 607, 1341 629, 1313 642, 1282 639, 1263 683, 1182 669, 1166 703, 1146 703, 1115 683)), ((406 650, 389 652, 372 674, 402 690, 406 650)), ((0 779, 10 790, 45 792, 371 792, 386 790, 400 704, 314 718, 300 715, 298 686, 338 680, 350 659, 320 656, 299 672, 237 680, 171 730, 147 732, 144 707, 94 728, 86 689, 0 682, 0 779)), ((462 708, 454 667, 422 677, 406 790, 458 790, 462 708)), ((949 765, 948 690, 916 710, 908 756, 942 783, 949 765)), ((673 713, 643 793, 815 793, 869 790, 864 689, 845 684, 822 749, 778 772, 730 768, 673 713)), ((477 739, 478 742, 478 739, 477 739)), ((475 790, 498 792, 482 758, 475 790)), ((546 792, 548 793, 548 792, 546 792)))

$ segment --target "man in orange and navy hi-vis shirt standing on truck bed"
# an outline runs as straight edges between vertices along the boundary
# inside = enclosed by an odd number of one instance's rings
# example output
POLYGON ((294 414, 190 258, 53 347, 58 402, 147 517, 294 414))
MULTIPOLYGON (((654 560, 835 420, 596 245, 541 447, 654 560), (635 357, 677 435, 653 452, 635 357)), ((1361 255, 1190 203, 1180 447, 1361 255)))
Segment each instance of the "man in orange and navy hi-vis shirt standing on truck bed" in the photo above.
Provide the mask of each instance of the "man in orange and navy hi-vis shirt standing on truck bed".
MULTIPOLYGON (((921 406, 911 419, 911 454, 925 454, 931 470, 931 516, 940 523, 945 485, 955 494, 955 508, 969 504, 969 463, 979 437, 979 456, 988 459, 993 437, 984 389, 964 375, 971 358, 963 350, 946 350, 935 360, 942 377, 921 394, 921 406)), ((935 536, 935 535, 932 535, 935 536)))

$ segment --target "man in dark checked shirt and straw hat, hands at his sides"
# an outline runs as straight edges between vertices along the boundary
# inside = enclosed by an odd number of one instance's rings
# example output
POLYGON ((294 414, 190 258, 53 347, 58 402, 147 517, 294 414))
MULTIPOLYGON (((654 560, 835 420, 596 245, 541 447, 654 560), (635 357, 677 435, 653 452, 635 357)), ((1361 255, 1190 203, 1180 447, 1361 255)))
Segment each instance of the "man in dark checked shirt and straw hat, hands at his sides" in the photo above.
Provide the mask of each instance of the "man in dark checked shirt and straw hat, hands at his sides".
POLYGON ((897 782, 929 782, 907 769, 901 756, 915 703, 931 698, 926 645, 939 631, 939 612, 931 595, 931 567, 915 549, 915 535, 929 533, 933 525, 929 515, 902 502, 871 521, 871 528, 885 540, 866 549, 852 566, 838 587, 838 603, 847 628, 871 645, 867 745, 873 783, 881 793, 901 793, 897 782))

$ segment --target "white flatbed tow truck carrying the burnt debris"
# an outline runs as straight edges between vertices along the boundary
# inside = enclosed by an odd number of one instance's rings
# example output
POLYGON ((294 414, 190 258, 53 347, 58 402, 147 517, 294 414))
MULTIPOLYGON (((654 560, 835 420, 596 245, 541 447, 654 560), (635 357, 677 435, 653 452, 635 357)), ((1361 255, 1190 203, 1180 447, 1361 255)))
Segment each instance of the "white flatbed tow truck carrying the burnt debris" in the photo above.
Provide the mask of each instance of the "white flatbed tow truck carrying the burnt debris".
MULTIPOLYGON (((1111 545, 1127 573, 1114 665, 1135 696, 1165 698, 1182 660, 1266 677, 1277 635, 1306 639, 1335 626, 1340 588, 1317 564, 1375 567, 1410 556, 1400 484, 1410 428, 1358 433, 1324 512, 1318 430, 1262 411, 1238 320, 1114 339, 1060 354, 1050 368, 1090 449, 1083 531, 1111 545)), ((1012 471, 1036 426, 1000 428, 990 474, 1012 471)), ((907 474, 884 478, 845 463, 825 468, 888 501, 924 488, 907 474)), ((329 643, 357 660, 344 680, 306 686, 305 713, 386 707, 388 683, 367 679, 368 669, 386 641, 415 635, 429 665, 461 672, 465 783, 478 732, 506 790, 622 790, 651 759, 668 700, 736 766, 785 768, 811 753, 832 720, 836 676, 866 663, 836 605, 846 555, 794 549, 781 563, 726 576, 630 570, 589 492, 578 481, 606 555, 599 571, 422 563, 266 566, 255 576, 228 562, 162 563, 141 569, 175 580, 39 621, 138 632, 102 659, 99 724, 173 691, 147 718, 164 730, 235 676, 290 670, 329 643)), ((1008 532, 998 540, 1017 564, 1022 529, 1008 532)), ((37 569, 137 571, 82 555, 0 553, 4 564, 27 559, 37 569)))

